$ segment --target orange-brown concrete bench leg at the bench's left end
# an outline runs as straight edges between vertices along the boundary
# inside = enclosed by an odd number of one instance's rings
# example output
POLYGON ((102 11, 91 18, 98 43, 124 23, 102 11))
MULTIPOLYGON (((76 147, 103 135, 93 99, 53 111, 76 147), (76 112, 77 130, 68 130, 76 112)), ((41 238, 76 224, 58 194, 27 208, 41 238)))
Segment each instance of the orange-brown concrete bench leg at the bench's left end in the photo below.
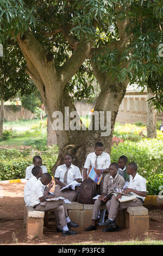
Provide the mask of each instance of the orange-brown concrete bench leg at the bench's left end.
POLYGON ((27 236, 40 237, 43 235, 43 218, 27 217, 27 236))

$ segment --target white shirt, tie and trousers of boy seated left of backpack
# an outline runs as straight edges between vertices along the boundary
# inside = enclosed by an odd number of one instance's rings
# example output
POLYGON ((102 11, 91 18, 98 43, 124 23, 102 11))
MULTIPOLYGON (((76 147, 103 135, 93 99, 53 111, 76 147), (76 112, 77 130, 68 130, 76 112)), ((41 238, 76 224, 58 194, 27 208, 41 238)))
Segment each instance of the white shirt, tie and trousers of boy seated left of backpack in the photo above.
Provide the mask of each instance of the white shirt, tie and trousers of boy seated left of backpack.
MULTIPOLYGON (((80 169, 77 166, 71 164, 71 166, 67 169, 66 164, 62 164, 61 166, 58 166, 55 170, 54 178, 59 178, 60 182, 64 183, 65 185, 68 185, 76 179, 82 179, 82 175, 80 173, 80 169)), ((74 202, 77 199, 78 189, 79 188, 76 187, 75 190, 66 189, 63 191, 59 191, 60 185, 55 185, 54 194, 57 197, 64 197, 65 199, 74 202)))

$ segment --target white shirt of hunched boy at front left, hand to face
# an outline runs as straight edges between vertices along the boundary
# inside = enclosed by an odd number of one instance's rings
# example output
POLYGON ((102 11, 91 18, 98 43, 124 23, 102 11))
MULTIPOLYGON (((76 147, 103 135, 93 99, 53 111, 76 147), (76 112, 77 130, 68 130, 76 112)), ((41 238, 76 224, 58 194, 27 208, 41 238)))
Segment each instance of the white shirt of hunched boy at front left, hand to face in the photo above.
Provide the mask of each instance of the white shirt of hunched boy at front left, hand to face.
POLYGON ((39 198, 43 197, 45 187, 40 179, 33 184, 30 190, 30 206, 40 204, 39 198))

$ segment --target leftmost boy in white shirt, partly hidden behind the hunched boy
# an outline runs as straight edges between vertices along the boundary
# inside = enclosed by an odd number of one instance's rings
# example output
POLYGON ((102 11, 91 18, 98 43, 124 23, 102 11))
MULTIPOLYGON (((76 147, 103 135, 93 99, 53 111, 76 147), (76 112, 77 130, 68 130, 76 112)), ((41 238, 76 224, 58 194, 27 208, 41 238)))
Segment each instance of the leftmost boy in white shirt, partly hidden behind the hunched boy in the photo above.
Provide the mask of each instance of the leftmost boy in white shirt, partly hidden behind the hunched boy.
POLYGON ((40 166, 35 166, 32 169, 32 178, 30 178, 29 180, 27 180, 25 186, 24 186, 24 202, 26 204, 26 206, 30 205, 30 190, 33 186, 33 184, 39 179, 41 178, 42 175, 42 169, 40 166))

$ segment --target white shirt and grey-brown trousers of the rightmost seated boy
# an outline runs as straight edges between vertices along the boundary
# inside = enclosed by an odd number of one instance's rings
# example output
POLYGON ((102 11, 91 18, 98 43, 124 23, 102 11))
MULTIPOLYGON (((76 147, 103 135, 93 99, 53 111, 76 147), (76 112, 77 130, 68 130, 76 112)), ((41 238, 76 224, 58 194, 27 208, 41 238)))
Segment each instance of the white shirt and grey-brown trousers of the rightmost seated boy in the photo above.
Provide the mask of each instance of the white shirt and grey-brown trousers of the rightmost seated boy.
MULTIPOLYGON (((134 190, 146 192, 146 179, 143 178, 141 175, 136 173, 134 179, 132 176, 130 176, 130 182, 128 188, 133 188, 134 190)), ((116 200, 115 196, 112 196, 110 200, 110 210, 109 210, 109 216, 108 218, 115 220, 117 211, 126 209, 128 206, 142 206, 143 202, 145 200, 145 197, 139 196, 138 194, 134 192, 130 192, 131 194, 134 194, 136 196, 136 199, 130 200, 127 202, 120 203, 118 200, 116 200)))

